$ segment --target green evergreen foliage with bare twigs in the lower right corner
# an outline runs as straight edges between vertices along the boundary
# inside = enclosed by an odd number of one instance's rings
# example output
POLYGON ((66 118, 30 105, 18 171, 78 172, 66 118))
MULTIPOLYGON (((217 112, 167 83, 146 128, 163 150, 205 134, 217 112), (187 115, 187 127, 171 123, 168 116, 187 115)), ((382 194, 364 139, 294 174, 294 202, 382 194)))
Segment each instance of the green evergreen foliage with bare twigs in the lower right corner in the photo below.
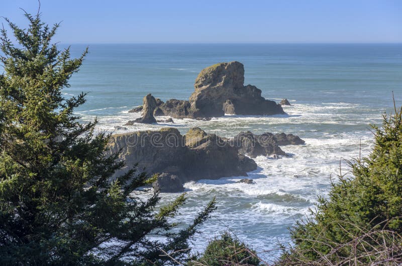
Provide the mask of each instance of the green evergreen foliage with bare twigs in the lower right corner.
POLYGON ((402 108, 382 127, 367 158, 348 162, 329 199, 291 229, 295 246, 279 264, 402 264, 402 108))

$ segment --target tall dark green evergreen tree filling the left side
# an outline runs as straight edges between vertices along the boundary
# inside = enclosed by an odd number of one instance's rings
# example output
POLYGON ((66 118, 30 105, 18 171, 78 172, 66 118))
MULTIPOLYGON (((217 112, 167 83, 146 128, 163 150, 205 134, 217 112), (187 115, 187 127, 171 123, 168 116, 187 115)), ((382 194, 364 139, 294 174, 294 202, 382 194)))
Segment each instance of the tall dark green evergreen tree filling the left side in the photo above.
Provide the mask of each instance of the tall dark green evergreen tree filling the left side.
POLYGON ((152 181, 145 173, 133 169, 109 182, 124 165, 117 154, 104 156, 110 135, 95 133, 96 120, 83 124, 74 115, 84 93, 62 96, 87 51, 71 59, 69 48, 59 51, 51 43, 59 24, 49 27, 39 13, 25 17, 28 29, 6 19, 17 44, 1 31, 1 264, 184 261, 187 240, 215 208, 214 200, 179 230, 168 219, 184 194, 156 211, 157 193, 147 200, 131 193, 152 181))

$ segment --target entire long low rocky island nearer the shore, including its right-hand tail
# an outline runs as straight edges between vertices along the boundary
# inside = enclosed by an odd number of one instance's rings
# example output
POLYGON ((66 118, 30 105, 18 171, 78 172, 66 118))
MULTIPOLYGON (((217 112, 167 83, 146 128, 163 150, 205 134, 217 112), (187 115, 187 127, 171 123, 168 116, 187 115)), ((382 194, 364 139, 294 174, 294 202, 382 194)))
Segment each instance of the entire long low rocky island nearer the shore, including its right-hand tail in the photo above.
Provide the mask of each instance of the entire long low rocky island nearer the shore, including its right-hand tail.
POLYGON ((162 128, 113 135, 109 152, 120 151, 120 159, 126 161, 125 168, 115 176, 138 163, 140 171, 161 174, 155 188, 176 192, 183 190, 182 184, 188 181, 247 176, 247 172, 257 169, 257 164, 248 156, 286 156, 279 143, 304 144, 304 141, 284 133, 254 135, 248 131, 227 140, 197 127, 185 135, 175 128, 162 128))

